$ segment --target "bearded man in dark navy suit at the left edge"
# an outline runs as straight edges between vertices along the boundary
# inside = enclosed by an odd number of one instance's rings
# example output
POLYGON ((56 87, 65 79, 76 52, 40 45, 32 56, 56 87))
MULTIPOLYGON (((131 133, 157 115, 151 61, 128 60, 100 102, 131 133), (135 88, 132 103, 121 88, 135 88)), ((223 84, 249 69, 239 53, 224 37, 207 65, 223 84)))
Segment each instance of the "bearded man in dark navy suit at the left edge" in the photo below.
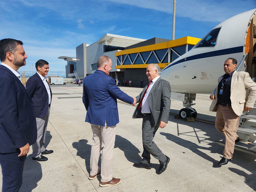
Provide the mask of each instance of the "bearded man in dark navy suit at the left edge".
POLYGON ((29 146, 36 142, 36 116, 18 69, 26 65, 23 43, 0 41, 0 164, 2 191, 19 191, 29 146))

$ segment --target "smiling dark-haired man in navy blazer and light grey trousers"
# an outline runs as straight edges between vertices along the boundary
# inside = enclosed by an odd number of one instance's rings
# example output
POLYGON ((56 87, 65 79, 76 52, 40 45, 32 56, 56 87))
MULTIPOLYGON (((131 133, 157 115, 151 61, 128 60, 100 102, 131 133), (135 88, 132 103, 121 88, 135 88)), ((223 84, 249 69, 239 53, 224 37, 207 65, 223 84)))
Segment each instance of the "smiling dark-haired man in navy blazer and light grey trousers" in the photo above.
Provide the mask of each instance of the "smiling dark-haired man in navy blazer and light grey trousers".
POLYGON ((43 155, 53 153, 53 150, 44 148, 52 102, 52 90, 46 80, 48 71, 49 63, 47 61, 42 59, 36 61, 36 73, 26 83, 26 89, 34 103, 36 113, 37 140, 32 145, 32 159, 36 161, 47 161, 48 158, 43 155))

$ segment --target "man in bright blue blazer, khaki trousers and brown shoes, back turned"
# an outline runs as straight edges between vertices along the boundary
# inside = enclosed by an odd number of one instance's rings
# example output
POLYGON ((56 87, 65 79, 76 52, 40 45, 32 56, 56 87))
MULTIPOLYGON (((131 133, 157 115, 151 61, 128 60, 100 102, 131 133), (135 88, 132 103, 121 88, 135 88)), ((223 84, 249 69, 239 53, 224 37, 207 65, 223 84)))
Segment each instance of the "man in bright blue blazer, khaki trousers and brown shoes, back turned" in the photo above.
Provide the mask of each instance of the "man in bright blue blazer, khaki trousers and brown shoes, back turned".
POLYGON ((118 185, 121 180, 113 178, 112 157, 116 138, 116 124, 119 123, 116 98, 134 104, 136 100, 122 92, 115 80, 108 76, 112 61, 108 56, 101 56, 97 61, 97 70, 84 78, 83 102, 87 114, 85 122, 92 126, 92 149, 89 179, 101 176, 100 186, 118 185), (101 170, 98 166, 100 148, 101 170))

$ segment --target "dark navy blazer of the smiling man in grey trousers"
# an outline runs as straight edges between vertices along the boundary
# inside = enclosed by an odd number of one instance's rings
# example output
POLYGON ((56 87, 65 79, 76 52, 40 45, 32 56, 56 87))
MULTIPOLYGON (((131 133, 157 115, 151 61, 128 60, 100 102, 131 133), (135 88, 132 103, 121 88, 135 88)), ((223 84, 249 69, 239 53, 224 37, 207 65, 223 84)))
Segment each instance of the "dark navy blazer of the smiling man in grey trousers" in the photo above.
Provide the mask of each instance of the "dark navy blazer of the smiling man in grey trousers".
MULTIPOLYGON (((43 80, 37 73, 29 77, 26 83, 26 89, 34 103, 36 117, 41 117, 41 118, 45 117, 48 113, 49 96, 44 86, 43 80)), ((50 87, 50 92, 51 92, 51 103, 52 103, 51 87, 50 87)), ((50 106, 51 104, 49 105, 49 107, 50 106)))

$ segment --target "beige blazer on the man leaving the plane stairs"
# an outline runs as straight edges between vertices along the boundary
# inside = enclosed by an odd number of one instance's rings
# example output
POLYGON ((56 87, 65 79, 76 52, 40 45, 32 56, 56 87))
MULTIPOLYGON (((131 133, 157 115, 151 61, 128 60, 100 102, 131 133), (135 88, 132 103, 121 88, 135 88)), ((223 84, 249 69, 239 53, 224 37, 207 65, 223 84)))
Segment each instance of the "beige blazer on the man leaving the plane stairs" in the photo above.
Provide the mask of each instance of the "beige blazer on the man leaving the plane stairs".
MULTIPOLYGON (((219 77, 218 82, 220 82, 223 76, 224 75, 219 77)), ((218 108, 218 84, 212 92, 212 95, 215 95, 216 100, 212 101, 212 104, 209 108, 210 111, 214 112, 216 112, 218 108)), ((241 116, 243 114, 245 106, 253 108, 256 100, 256 83, 252 81, 249 73, 244 71, 235 71, 233 73, 230 87, 230 100, 231 107, 237 116, 241 116), (249 90, 250 94, 248 95, 249 90)))

